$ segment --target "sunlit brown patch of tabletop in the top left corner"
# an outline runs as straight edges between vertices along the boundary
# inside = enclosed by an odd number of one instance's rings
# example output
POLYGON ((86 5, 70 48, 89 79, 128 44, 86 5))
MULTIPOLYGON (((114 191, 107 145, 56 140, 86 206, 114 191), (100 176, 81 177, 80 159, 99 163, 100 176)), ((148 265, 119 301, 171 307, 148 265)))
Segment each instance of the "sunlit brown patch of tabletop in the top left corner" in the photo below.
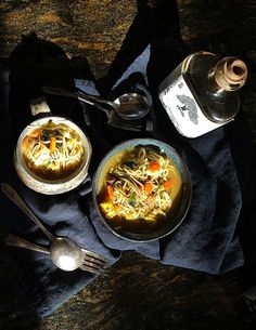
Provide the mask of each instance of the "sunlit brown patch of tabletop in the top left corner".
POLYGON ((1 1, 0 56, 9 56, 21 36, 60 45, 68 56, 86 56, 95 74, 107 70, 136 15, 135 1, 1 1), (125 9, 125 10, 124 10, 125 9))

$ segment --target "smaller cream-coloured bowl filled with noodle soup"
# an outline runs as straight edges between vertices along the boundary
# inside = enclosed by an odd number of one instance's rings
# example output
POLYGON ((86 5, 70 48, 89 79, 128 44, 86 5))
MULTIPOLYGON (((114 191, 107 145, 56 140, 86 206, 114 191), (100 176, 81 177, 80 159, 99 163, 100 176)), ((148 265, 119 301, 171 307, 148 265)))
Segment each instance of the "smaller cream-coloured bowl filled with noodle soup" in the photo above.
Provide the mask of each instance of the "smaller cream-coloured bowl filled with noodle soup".
POLYGON ((46 195, 76 188, 88 175, 91 144, 85 132, 62 117, 44 117, 21 133, 14 166, 29 188, 46 195))

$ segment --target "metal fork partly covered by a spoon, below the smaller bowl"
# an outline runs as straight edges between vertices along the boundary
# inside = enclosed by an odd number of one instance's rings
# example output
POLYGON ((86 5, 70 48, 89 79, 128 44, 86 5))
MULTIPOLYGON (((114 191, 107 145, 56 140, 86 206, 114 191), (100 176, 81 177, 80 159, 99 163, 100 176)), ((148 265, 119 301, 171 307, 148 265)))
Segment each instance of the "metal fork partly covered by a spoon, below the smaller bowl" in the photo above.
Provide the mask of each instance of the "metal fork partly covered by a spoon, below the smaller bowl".
MULTIPOLYGON (((35 245, 13 234, 9 234, 5 237, 5 245, 9 247, 16 247, 16 248, 40 252, 43 254, 49 254, 51 256, 51 252, 47 248, 35 245)), ((105 259, 102 259, 97 253, 84 249, 82 249, 82 254, 84 254, 84 261, 82 261, 82 266, 80 266, 82 270, 87 270, 93 274, 101 274, 102 270, 105 269, 106 267, 105 259)))

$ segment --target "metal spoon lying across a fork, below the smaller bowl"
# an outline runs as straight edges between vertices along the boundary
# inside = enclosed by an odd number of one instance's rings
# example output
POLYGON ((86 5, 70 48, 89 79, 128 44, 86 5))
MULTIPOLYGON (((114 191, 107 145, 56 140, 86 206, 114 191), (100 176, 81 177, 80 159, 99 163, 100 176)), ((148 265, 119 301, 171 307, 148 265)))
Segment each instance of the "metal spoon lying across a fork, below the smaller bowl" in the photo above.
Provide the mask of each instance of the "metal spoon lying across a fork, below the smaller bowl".
MULTIPOLYGON (((73 239, 53 236, 9 184, 2 183, 1 189, 49 237, 50 254, 53 263, 59 268, 63 270, 84 268, 84 251, 73 239)), ((90 251, 87 251, 87 254, 90 255, 90 251)), ((91 252, 90 256, 94 258, 94 255, 95 253, 91 252)), ((99 259, 101 260, 102 258, 99 255, 99 259)))

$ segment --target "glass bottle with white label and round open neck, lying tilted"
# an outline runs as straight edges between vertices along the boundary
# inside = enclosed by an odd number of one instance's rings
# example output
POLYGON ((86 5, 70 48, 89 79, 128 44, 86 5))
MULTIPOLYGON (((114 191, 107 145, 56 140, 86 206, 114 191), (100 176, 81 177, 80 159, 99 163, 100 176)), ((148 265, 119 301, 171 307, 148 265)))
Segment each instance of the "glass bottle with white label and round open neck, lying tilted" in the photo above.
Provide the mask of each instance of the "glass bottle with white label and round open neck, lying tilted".
POLYGON ((246 78, 243 61, 196 52, 159 84, 159 100, 179 133, 197 137, 234 118, 240 107, 238 90, 246 78))

